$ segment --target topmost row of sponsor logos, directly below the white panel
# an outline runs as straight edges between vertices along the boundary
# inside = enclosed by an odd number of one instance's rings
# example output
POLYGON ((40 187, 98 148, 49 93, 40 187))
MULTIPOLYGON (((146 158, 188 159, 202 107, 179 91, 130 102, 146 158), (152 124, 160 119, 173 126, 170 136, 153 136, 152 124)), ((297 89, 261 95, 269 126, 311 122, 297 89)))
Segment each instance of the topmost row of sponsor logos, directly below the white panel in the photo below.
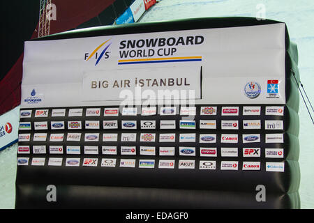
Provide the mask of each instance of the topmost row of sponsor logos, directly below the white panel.
MULTIPOLYGON (((100 116, 101 108, 87 108, 85 116, 100 116)), ((122 116, 137 116, 137 107, 108 107, 103 109, 103 116, 119 116, 121 110, 122 116)), ((204 106, 200 107, 201 116, 207 115, 217 115, 217 107, 215 106, 204 106)), ((265 107, 265 115, 283 116, 284 107, 283 106, 267 106, 265 107)), ((181 106, 180 110, 177 111, 177 107, 160 107, 160 116, 171 116, 171 115, 181 115, 181 116, 195 116, 197 113, 196 107, 184 107, 181 106)), ((157 114, 157 107, 142 107, 140 110, 142 116, 154 116, 157 114)), ((244 106, 242 110, 244 116, 261 114, 260 106, 244 106)), ((21 110, 20 118, 31 118, 32 110, 21 110)), ((49 109, 36 109, 34 117, 47 118, 49 115, 49 109)), ((225 106, 221 107, 222 116, 239 116, 239 107, 225 106)), ((66 109, 52 109, 52 117, 64 117, 66 116, 66 109)), ((83 116, 83 109, 68 109, 68 117, 83 116)))

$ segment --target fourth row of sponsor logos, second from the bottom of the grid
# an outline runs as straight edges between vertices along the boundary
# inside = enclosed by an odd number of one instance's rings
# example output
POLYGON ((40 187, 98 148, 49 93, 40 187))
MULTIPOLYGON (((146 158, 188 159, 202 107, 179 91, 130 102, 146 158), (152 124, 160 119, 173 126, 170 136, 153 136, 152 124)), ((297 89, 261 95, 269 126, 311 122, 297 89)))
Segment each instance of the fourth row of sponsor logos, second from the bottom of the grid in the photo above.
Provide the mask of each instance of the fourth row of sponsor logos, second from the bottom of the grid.
MULTIPOLYGON (((101 151, 103 155, 117 155, 117 146, 102 146, 101 151)), ((175 147, 159 147, 159 155, 174 156, 175 147)), ((17 153, 30 154, 30 146, 18 146, 17 153)), ((46 154, 47 149, 45 145, 33 146, 33 154, 46 154)), ((50 154, 81 154, 81 146, 66 146, 66 152, 64 152, 63 146, 49 146, 50 154)), ((195 147, 179 146, 179 155, 196 156, 197 150, 195 147)), ((261 148, 243 148, 243 157, 261 157, 261 148)), ((84 154, 98 155, 98 146, 84 146, 84 154)), ((120 146, 121 155, 137 155, 137 146, 120 146)), ((200 157, 217 157, 217 148, 200 147, 200 157)), ((156 155, 155 146, 140 146, 140 155, 156 155)), ((283 148, 265 148, 264 155, 267 158, 283 158, 283 148)), ((221 157, 238 157, 239 148, 220 148, 221 157)))

